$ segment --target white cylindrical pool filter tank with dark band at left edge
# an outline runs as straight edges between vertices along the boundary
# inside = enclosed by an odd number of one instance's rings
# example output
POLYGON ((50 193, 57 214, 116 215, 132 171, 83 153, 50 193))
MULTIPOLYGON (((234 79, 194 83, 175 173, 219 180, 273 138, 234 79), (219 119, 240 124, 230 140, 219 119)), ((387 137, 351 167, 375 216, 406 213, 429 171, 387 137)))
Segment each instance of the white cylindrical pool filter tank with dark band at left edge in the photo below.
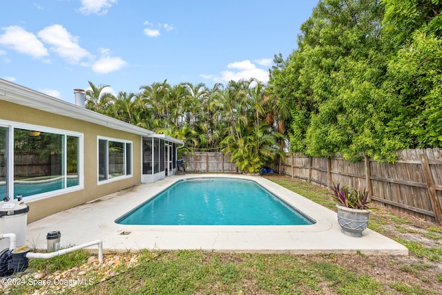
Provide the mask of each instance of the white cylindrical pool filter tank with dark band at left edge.
MULTIPOLYGON (((28 224, 29 207, 21 196, 17 200, 3 198, 0 202, 0 234, 13 233, 17 236, 17 246, 26 244, 26 225, 28 224)), ((0 240, 0 251, 9 248, 7 239, 0 240)))

